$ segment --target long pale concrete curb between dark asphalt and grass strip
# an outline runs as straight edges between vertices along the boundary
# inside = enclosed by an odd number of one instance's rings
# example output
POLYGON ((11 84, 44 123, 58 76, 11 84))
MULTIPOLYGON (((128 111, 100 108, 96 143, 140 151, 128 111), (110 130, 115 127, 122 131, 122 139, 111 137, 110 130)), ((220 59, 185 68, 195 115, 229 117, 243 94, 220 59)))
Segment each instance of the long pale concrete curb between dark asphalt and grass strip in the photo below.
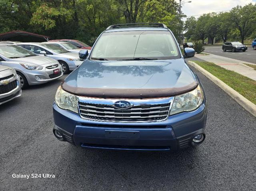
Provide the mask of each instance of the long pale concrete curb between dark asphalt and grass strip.
POLYGON ((220 87, 224 92, 226 92, 230 97, 232 97, 240 106, 242 106, 245 110, 250 112, 253 116, 256 117, 256 105, 242 96, 240 93, 226 85, 223 81, 212 75, 210 72, 206 71, 196 63, 192 61, 187 61, 188 64, 195 67, 198 71, 200 71, 203 75, 205 75, 208 79, 210 79, 213 83, 215 83, 218 87, 220 87))

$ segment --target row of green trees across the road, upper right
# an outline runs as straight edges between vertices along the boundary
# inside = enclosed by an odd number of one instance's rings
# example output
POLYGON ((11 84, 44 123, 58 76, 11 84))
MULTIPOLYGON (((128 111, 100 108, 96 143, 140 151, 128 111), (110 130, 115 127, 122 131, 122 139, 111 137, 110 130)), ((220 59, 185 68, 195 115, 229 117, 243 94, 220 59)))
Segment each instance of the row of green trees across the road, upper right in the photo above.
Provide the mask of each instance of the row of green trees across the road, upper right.
POLYGON ((256 35, 256 4, 236 6, 230 12, 219 14, 203 14, 197 20, 190 17, 185 22, 185 36, 192 40, 210 39, 213 44, 214 38, 234 39, 244 43, 244 39, 254 39, 256 35))

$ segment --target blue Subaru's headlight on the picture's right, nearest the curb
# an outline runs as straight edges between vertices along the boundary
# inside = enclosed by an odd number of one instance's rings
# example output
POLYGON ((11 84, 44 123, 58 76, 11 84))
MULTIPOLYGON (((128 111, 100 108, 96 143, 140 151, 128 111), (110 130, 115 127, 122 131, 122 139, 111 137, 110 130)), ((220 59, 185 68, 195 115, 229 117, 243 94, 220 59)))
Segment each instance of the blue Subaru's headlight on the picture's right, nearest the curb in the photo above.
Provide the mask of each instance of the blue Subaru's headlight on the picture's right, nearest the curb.
POLYGON ((174 97, 172 109, 169 115, 195 110, 202 104, 202 101, 203 93, 202 89, 198 85, 193 91, 174 97))

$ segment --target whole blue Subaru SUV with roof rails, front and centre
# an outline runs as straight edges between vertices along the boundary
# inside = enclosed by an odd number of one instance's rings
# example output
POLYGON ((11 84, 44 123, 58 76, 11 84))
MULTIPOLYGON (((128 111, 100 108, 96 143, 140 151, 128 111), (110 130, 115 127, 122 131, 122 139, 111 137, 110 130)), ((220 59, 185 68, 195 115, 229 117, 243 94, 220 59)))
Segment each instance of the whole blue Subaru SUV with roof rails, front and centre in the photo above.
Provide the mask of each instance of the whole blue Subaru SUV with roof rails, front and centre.
POLYGON ((84 148, 178 150, 205 139, 206 96, 164 24, 109 26, 58 88, 54 135, 84 148))

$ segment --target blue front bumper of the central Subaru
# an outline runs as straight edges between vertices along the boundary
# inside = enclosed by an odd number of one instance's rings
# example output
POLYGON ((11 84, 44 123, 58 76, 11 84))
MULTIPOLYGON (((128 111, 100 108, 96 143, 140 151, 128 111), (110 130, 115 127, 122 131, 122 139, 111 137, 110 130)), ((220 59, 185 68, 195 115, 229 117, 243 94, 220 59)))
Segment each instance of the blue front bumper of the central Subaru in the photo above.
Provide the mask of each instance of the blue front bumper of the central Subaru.
POLYGON ((206 113, 203 101, 196 110, 170 116, 165 121, 131 124, 85 120, 53 104, 54 130, 65 141, 86 148, 117 150, 178 150, 194 146, 194 136, 205 135, 206 113), (109 135, 116 132, 117 135, 109 135))

